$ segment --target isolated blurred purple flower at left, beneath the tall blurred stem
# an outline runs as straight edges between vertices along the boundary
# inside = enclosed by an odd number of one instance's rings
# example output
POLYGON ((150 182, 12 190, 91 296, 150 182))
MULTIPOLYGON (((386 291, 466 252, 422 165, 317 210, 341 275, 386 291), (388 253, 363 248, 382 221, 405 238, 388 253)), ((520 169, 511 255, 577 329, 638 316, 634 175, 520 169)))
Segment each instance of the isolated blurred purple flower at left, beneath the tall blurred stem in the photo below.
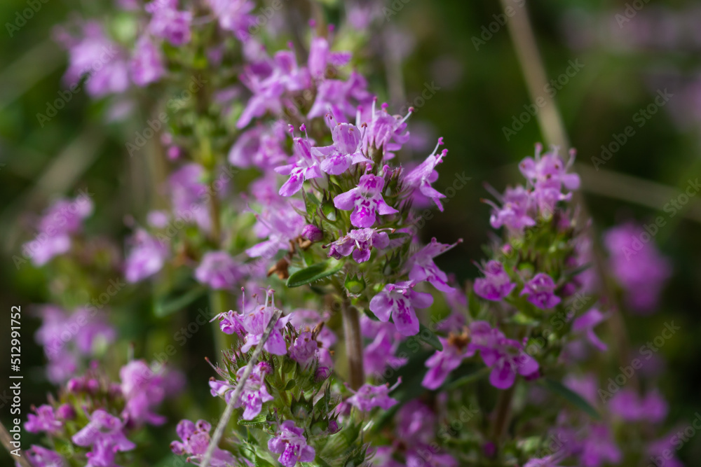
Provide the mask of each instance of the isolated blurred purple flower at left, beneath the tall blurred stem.
POLYGON ((168 246, 139 229, 131 237, 131 248, 124 260, 124 277, 128 282, 138 282, 160 271, 170 256, 168 246))

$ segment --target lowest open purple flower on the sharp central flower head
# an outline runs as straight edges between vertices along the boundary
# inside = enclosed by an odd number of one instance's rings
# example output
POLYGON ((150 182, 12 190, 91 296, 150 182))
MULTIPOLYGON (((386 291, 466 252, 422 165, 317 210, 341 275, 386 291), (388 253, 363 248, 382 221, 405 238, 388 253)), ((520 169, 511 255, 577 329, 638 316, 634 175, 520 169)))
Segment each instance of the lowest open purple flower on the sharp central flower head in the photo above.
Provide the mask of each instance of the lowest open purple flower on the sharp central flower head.
POLYGON ((370 310, 380 321, 387 322, 392 317, 401 335, 418 333, 418 318, 414 308, 426 308, 433 304, 430 293, 414 291, 411 282, 387 284, 370 300, 370 310))

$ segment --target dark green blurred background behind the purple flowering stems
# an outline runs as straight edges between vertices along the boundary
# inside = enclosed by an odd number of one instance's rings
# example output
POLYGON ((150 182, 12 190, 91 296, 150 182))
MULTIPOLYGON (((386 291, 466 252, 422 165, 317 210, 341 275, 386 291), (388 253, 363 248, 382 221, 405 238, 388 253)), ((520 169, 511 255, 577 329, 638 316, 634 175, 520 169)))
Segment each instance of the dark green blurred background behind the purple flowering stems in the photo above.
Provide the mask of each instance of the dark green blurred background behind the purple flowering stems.
MULTIPOLYGON (((100 207, 88 218, 88 233, 109 233, 121 246, 118 236, 128 232, 124 215, 143 214, 151 191, 139 176, 143 160, 125 151, 132 122, 107 121, 103 102, 77 92, 55 118, 37 117, 64 92, 66 54, 52 40, 52 28, 70 12, 97 10, 95 4, 104 2, 39 3, 39 11, 24 21, 19 15, 27 8, 26 0, 0 4, 2 356, 9 354, 4 336, 9 335, 11 306, 29 312, 32 304, 48 297, 50 283, 44 274, 13 260, 34 233, 34 214, 57 196, 74 197, 88 189, 100 207)), ((526 8, 522 0, 503 4, 515 12, 526 8)), ((533 154, 536 142, 555 142, 541 131, 538 118, 560 116, 564 132, 559 137, 576 148, 575 170, 583 179, 583 199, 599 249, 602 233, 613 225, 649 224, 660 216, 665 220, 653 235, 672 265, 660 305, 651 314, 622 315, 633 349, 659 335, 665 323, 681 326, 660 348, 666 372, 658 384, 670 403, 668 419, 683 428, 701 410, 701 193, 680 197, 692 193, 690 182, 701 176, 701 6, 691 1, 590 0, 531 1, 527 8, 542 68, 538 57, 519 59, 510 30, 515 24, 502 15, 503 5, 496 0, 395 0, 380 10, 385 34, 369 46, 380 50, 381 61, 375 67, 378 74, 369 79, 386 88, 391 109, 416 109, 411 118, 416 158, 430 153, 439 136, 449 149, 435 183, 449 200, 421 235, 442 242, 462 237, 463 244, 437 263, 461 280, 475 277, 471 262, 482 258, 481 245, 492 232, 489 206, 481 202, 491 197, 485 184, 501 191, 519 183, 517 162, 533 154), (543 74, 547 85, 529 92, 524 69, 543 74), (446 190, 458 187, 458 177, 470 180, 450 196, 446 190)), ((138 304, 132 306, 132 313, 141 311, 138 304)), ((151 314, 142 316, 146 327, 156 325, 151 314)), ((25 414, 29 404, 39 405, 52 390, 41 376, 43 353, 33 341, 37 326, 39 321, 25 313, 25 414)), ((145 331, 123 323, 121 332, 137 340, 145 331)), ((209 332, 188 342, 198 350, 182 356, 211 354, 209 332)), ((610 341, 611 333, 604 331, 604 340, 610 341)), ((178 364, 189 379, 202 381, 209 369, 200 368, 201 363, 178 364)), ((9 386, 7 366, 0 363, 3 421, 11 418, 3 392, 9 386)), ((618 372, 611 367, 612 377, 618 372)), ((207 388, 201 386, 205 394, 207 388)), ((171 434, 164 435, 165 446, 171 434)), ((699 465, 697 438, 681 450, 686 465, 699 465)), ((27 446, 29 440, 27 433, 27 446)), ((0 465, 10 462, 1 452, 0 465)))

